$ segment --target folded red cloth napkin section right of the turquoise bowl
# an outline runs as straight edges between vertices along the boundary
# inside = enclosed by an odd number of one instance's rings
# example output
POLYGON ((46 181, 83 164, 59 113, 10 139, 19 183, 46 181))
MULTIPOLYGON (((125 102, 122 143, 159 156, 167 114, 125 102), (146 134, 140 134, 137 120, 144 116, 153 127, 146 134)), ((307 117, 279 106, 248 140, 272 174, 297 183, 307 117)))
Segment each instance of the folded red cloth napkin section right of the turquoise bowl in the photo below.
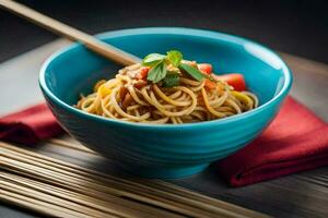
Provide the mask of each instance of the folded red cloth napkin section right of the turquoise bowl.
POLYGON ((253 143, 218 162, 231 185, 242 186, 328 165, 328 124, 288 97, 253 143))

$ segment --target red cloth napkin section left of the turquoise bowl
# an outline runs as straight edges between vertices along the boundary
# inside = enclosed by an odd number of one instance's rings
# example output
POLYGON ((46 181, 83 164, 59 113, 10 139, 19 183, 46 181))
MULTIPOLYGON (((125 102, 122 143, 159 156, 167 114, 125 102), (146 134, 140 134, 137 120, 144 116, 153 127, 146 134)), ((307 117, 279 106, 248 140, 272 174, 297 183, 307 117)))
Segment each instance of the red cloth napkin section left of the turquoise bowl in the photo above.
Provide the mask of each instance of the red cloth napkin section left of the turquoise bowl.
POLYGON ((46 104, 11 113, 0 119, 0 140, 23 144, 57 136, 63 130, 46 104))

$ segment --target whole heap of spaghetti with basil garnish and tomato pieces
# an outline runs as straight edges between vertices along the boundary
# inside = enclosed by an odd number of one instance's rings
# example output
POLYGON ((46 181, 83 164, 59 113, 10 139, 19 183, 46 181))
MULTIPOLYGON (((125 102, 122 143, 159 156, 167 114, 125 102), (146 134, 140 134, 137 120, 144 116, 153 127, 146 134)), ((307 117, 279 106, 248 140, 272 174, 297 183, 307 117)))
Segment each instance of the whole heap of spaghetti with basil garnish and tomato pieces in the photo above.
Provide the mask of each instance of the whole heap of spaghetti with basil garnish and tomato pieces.
POLYGON ((152 53, 142 63, 98 81, 77 108, 109 119, 142 123, 190 123, 251 110, 257 97, 241 74, 218 76, 210 64, 185 61, 179 51, 152 53))

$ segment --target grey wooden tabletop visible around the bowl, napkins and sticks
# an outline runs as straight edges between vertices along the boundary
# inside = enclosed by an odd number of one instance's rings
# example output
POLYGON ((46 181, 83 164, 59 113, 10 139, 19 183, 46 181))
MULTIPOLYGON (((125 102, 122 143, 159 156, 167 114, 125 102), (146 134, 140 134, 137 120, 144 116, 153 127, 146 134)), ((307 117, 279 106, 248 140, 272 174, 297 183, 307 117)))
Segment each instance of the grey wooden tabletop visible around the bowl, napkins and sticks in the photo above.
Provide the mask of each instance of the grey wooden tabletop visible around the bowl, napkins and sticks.
MULTIPOLYGON (((37 86, 39 66, 51 52, 67 44, 66 40, 57 40, 0 65, 0 116, 43 100, 37 86)), ((291 95, 328 121, 328 65, 281 55, 294 74, 291 95)), ((97 158, 85 154, 72 157, 69 150, 59 150, 51 143, 46 143, 38 152, 102 169, 97 158)), ((230 187, 213 167, 201 174, 169 182, 274 217, 328 217, 328 167, 237 189, 230 187)), ((0 205, 0 217, 37 215, 0 205)))

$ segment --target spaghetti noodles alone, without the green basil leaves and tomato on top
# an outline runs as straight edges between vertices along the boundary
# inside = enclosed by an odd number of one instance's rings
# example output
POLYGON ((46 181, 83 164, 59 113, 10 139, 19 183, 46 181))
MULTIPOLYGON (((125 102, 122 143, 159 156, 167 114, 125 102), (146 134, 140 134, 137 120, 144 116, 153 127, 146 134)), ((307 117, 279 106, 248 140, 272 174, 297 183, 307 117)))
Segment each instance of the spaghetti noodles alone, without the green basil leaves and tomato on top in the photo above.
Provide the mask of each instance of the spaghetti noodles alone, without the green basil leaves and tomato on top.
POLYGON ((179 84, 165 87, 136 75, 142 64, 124 68, 108 81, 94 85, 94 93, 82 96, 77 108, 109 119, 141 123, 173 123, 209 121, 242 113, 258 107, 256 95, 238 92, 224 81, 192 80, 180 72, 179 84))

